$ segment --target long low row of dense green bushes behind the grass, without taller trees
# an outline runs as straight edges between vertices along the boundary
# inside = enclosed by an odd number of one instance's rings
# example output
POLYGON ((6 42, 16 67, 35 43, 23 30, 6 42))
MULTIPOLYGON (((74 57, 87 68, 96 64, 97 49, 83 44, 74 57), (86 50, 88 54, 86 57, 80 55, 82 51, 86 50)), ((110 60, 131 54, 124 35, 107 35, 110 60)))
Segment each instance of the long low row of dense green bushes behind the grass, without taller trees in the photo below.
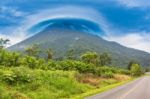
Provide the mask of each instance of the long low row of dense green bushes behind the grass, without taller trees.
POLYGON ((77 60, 46 61, 42 58, 20 55, 18 53, 14 53, 14 52, 11 53, 3 50, 0 52, 0 65, 4 65, 5 67, 26 66, 31 69, 43 69, 43 70, 64 70, 64 71, 73 70, 73 71, 78 71, 80 73, 92 73, 98 76, 106 75, 106 77, 107 75, 111 75, 111 73, 127 74, 127 75, 130 74, 128 70, 124 70, 116 67, 95 66, 93 62, 96 62, 95 60, 97 59, 96 53, 86 53, 82 56, 82 58, 90 62, 82 62, 77 60))

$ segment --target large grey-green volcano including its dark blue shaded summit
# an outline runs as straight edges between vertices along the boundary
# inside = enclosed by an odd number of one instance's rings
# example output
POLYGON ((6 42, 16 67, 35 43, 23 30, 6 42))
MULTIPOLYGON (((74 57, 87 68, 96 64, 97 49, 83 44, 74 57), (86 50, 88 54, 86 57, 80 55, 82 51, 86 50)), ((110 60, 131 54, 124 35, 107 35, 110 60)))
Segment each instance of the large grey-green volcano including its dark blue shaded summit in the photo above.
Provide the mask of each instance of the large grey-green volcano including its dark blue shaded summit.
MULTIPOLYGON (((40 23, 31 31, 37 29, 40 23)), ((70 49, 75 51, 76 57, 86 51, 97 53, 109 53, 112 56, 113 66, 127 66, 132 60, 141 63, 142 66, 150 66, 150 54, 144 51, 128 48, 116 42, 102 39, 94 32, 102 32, 89 22, 79 21, 51 21, 42 31, 34 36, 9 47, 13 51, 23 51, 25 48, 38 44, 41 50, 51 48, 54 57, 65 56, 70 49), (82 24, 81 24, 82 23, 82 24)), ((44 56, 44 55, 43 55, 44 56)))

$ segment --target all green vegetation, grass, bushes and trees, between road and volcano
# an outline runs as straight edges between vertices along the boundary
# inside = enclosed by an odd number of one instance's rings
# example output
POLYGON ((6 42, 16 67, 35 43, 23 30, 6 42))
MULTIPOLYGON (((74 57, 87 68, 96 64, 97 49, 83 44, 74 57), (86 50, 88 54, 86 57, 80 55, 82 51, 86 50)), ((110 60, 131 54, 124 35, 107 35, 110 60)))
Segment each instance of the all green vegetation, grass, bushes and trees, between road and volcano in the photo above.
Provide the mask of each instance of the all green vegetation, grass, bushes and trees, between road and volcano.
POLYGON ((85 52, 76 59, 68 49, 66 56, 54 59, 55 51, 37 45, 24 53, 8 51, 8 41, 0 40, 0 99, 73 99, 144 73, 136 62, 126 69, 110 66, 108 53, 85 52))

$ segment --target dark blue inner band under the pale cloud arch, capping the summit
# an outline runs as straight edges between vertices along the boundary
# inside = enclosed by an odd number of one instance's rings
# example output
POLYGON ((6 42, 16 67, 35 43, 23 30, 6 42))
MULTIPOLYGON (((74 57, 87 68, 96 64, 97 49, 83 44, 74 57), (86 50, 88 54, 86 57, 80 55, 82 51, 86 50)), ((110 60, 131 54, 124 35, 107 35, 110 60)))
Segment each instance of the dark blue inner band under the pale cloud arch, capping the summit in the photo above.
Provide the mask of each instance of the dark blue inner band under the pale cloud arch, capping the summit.
POLYGON ((92 34, 100 34, 104 33, 98 24, 84 20, 84 19, 72 19, 72 18, 64 18, 64 19, 51 19, 40 22, 33 27, 31 27, 28 31, 32 33, 38 33, 43 31, 44 29, 68 29, 79 32, 86 32, 92 34))

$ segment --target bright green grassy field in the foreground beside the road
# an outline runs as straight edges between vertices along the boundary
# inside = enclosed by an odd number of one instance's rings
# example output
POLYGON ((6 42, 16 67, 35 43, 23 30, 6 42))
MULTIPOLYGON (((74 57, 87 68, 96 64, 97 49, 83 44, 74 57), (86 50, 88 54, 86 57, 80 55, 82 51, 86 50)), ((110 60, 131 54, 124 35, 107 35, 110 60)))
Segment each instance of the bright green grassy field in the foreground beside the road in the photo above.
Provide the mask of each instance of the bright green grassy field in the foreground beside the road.
POLYGON ((0 68, 0 99, 83 99, 127 82, 105 79, 92 86, 79 82, 76 75, 80 74, 27 67, 0 68))

